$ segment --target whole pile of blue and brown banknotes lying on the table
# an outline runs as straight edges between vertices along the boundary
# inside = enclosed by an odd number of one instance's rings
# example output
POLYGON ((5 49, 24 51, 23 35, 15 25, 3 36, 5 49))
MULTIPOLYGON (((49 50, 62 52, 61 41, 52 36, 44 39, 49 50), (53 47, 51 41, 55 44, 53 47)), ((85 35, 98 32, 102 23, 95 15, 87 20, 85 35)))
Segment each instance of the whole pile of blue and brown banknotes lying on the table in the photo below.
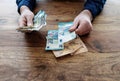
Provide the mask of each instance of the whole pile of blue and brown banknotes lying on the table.
POLYGON ((69 28, 73 22, 60 22, 58 23, 58 30, 49 30, 46 37, 46 50, 52 50, 55 57, 65 55, 75 55, 87 52, 85 44, 75 34, 69 32, 69 28))

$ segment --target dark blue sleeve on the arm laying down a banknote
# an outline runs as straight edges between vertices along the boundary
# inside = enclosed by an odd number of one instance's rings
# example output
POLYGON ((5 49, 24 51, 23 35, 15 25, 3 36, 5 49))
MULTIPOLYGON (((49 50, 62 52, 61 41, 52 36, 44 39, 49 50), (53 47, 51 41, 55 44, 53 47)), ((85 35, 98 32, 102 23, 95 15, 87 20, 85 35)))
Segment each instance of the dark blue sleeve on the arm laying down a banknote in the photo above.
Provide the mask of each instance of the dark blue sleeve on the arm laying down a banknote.
POLYGON ((84 9, 89 10, 95 18, 103 9, 106 0, 86 0, 84 9))

